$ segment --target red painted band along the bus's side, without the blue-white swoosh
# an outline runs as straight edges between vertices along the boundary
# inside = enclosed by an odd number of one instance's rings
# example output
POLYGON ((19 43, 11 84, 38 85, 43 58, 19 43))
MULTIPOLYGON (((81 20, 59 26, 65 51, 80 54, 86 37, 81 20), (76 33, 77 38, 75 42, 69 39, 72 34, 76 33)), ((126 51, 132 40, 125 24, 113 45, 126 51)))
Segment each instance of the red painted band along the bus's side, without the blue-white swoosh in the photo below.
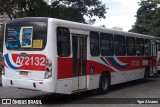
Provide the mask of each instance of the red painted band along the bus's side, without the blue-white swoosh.
MULTIPOLYGON (((147 58, 146 56, 145 57, 118 57, 117 59, 120 62, 126 63, 125 68, 117 68, 107 58, 108 57, 106 57, 106 60, 111 64, 112 67, 109 65, 105 65, 102 62, 87 60, 86 75, 101 74, 103 71, 116 72, 114 69, 117 69, 117 71, 127 71, 127 70, 142 69, 147 66, 152 66, 151 57, 147 58), (91 71, 91 68, 92 68, 92 71, 91 71)), ((156 63, 156 61, 154 63, 156 63)), ((58 57, 58 79, 72 78, 72 77, 73 77, 73 58, 58 57)))

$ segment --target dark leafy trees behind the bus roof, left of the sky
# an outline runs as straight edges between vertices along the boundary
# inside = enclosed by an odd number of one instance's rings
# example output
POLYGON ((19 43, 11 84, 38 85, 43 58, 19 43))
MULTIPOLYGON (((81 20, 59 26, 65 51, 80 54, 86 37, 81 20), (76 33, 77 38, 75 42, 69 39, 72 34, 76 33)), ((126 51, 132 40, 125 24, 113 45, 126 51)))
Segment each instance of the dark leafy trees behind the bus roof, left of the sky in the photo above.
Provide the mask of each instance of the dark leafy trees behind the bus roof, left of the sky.
POLYGON ((0 12, 6 12, 10 19, 24 16, 53 17, 91 24, 96 17, 105 18, 107 8, 99 0, 52 1, 51 5, 47 5, 43 0, 0 0, 0 12))

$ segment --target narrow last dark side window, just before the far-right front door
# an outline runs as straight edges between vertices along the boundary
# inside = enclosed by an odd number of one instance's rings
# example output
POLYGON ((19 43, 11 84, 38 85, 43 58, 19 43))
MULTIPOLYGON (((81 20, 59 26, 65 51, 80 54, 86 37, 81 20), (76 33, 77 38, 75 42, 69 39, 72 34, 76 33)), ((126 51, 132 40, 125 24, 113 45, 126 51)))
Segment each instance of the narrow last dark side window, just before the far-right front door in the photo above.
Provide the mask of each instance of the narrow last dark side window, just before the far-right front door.
POLYGON ((147 56, 151 55, 151 42, 148 39, 145 39, 144 54, 147 56))

